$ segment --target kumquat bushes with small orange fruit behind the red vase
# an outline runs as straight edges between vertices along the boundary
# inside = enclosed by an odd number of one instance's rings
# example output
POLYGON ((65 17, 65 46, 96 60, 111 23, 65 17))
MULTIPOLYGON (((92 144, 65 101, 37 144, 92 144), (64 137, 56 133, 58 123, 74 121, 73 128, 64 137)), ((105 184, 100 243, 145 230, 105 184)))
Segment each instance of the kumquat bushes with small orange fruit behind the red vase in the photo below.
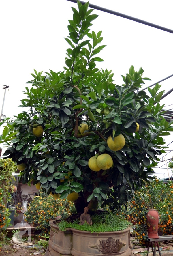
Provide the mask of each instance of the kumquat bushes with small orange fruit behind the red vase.
POLYGON ((146 214, 149 208, 158 210, 159 226, 158 230, 163 235, 173 235, 173 184, 172 181, 164 183, 155 178, 151 184, 146 185, 141 190, 135 191, 133 201, 122 207, 119 215, 131 220, 134 225, 133 232, 136 239, 145 244, 147 237, 146 214))

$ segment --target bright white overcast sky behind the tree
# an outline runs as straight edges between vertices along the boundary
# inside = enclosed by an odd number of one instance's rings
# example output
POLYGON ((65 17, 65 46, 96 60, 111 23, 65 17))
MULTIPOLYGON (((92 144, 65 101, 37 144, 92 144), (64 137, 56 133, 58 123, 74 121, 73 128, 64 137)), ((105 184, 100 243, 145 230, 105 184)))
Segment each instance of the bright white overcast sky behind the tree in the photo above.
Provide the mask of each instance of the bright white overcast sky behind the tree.
MULTIPOLYGON (((91 4, 121 12, 173 30, 172 0, 91 0, 91 4)), ((75 3, 66 0, 6 0, 0 1, 0 84, 9 85, 6 91, 3 114, 6 117, 17 115, 25 83, 32 79, 30 73, 37 71, 63 71, 65 53, 69 45, 64 40, 69 32, 68 19, 72 19, 71 6, 75 3)), ((94 10, 99 17, 94 20, 91 30, 102 30, 107 47, 98 54, 104 59, 97 67, 112 69, 116 84, 121 85, 121 74, 125 75, 133 65, 135 70, 142 66, 149 86, 173 74, 173 34, 155 29, 125 18, 94 10)), ((162 82, 162 90, 172 89, 173 77, 162 82)), ((0 86, 0 112, 4 89, 0 86)), ((161 101, 165 109, 172 109, 173 92, 161 101)), ((166 145, 173 141, 172 134, 165 137, 166 145)), ((167 152, 173 149, 169 145, 167 152)), ((170 152, 166 159, 171 158, 170 152)), ((163 159, 164 160, 164 159, 163 159)), ((159 166, 163 165, 159 164, 159 166)), ((163 166, 166 168, 166 165, 163 166)), ((167 169, 155 168, 157 177, 168 177, 167 169)), ((170 171, 170 170, 169 170, 170 171)), ((170 171, 171 172, 171 171, 170 171)), ((171 175, 171 174, 170 174, 171 175)))

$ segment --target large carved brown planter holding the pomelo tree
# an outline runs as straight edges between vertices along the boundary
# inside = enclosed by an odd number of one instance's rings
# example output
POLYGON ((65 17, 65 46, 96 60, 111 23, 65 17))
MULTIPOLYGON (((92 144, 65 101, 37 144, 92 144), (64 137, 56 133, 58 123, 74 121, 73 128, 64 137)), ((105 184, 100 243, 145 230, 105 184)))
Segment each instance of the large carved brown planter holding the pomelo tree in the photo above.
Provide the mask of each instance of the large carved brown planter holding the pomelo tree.
POLYGON ((45 256, 131 256, 130 228, 115 232, 90 233, 76 229, 60 231, 56 221, 51 226, 45 256))

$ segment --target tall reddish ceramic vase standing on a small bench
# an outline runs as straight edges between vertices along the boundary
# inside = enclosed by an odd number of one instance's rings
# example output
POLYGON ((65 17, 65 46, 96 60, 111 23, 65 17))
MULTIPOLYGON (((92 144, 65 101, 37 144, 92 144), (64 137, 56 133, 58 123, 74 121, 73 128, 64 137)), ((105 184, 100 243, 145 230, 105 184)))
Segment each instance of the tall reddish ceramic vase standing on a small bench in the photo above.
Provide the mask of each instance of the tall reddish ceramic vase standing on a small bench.
POLYGON ((157 230, 159 224, 159 213, 155 209, 149 209, 146 215, 149 238, 159 238, 157 230))

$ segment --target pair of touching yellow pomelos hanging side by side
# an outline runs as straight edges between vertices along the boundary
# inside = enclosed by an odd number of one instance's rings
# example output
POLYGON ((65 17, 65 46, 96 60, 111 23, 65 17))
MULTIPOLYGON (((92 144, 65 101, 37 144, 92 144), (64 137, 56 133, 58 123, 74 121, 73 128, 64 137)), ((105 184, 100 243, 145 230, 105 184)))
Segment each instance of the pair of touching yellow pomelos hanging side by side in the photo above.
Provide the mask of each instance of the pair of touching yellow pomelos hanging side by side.
POLYGON ((88 166, 92 171, 108 170, 113 165, 112 157, 108 154, 92 156, 88 161, 88 166))

